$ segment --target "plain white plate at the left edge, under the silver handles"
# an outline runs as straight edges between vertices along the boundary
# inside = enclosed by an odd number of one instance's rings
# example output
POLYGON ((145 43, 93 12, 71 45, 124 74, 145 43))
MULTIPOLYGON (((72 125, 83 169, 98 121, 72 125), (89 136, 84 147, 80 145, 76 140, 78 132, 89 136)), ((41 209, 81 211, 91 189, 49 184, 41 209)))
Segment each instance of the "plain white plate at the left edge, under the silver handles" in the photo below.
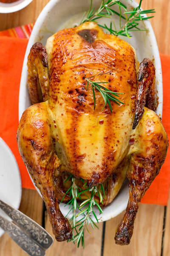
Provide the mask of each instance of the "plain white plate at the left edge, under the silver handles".
MULTIPOLYGON (((17 161, 8 145, 0 138, 0 199, 18 209, 21 193, 21 177, 17 161)), ((0 215, 10 220, 1 209, 0 215)), ((0 236, 3 233, 0 228, 0 236)))

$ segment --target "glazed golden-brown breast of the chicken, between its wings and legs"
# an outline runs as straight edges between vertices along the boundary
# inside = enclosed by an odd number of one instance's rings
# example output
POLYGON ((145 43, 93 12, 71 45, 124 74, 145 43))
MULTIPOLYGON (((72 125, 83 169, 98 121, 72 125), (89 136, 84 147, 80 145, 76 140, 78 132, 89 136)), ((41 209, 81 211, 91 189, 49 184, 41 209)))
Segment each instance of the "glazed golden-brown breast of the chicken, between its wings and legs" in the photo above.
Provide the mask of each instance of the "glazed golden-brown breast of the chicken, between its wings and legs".
POLYGON ((124 158, 133 125, 137 88, 133 48, 106 35, 95 23, 84 23, 48 38, 46 49, 49 110, 56 125, 52 125, 54 137, 62 146, 60 159, 66 171, 88 180, 89 186, 102 183, 124 158), (111 102, 113 113, 108 105, 102 110, 102 96, 95 92, 94 111, 85 78, 108 71, 92 80, 109 82, 105 87, 124 93, 120 99, 126 104, 111 102))

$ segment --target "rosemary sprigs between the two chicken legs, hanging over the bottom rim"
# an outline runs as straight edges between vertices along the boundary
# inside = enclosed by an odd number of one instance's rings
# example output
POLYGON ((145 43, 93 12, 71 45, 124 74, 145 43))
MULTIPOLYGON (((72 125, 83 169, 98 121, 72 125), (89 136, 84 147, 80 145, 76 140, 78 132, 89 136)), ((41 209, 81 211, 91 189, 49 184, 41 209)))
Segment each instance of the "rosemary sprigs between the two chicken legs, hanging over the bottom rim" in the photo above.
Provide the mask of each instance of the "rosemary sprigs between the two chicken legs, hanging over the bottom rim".
MULTIPOLYGON (((93 207, 96 205, 96 207, 99 209, 99 212, 100 213, 103 212, 99 203, 96 201, 94 195, 96 193, 98 193, 100 203, 103 204, 103 200, 105 197, 105 190, 104 190, 104 187, 102 184, 100 184, 99 186, 94 186, 92 188, 86 188, 87 182, 84 183, 83 187, 85 187, 85 189, 83 190, 76 185, 75 178, 73 175, 70 175, 68 177, 68 179, 65 180, 65 182, 68 181, 69 179, 71 179, 72 184, 71 184, 71 187, 66 192, 66 194, 68 194, 71 197, 71 200, 66 204, 66 205, 70 204, 69 211, 68 211, 66 217, 68 216, 69 212, 72 211, 73 215, 69 221, 71 223, 73 237, 72 237, 72 239, 70 239, 68 241, 72 241, 74 243, 76 242, 78 247, 81 243, 82 247, 84 247, 85 246, 85 241, 84 241, 85 229, 87 229, 87 231, 90 233, 90 231, 88 230, 88 225, 90 224, 93 229, 95 227, 99 228, 99 227, 97 227, 96 223, 94 222, 94 220, 92 218, 92 216, 94 216, 97 223, 99 222, 97 219, 97 216, 94 212, 93 207), (81 194, 84 193, 86 195, 85 192, 87 192, 87 191, 91 192, 90 197, 87 195, 88 199, 86 199, 79 205, 77 203, 77 199, 81 200, 81 194), (76 214, 76 210, 78 210, 79 213, 76 214), (76 218, 80 215, 82 216, 82 218, 80 220, 76 221, 76 218)), ((84 180, 82 180, 82 181, 84 182, 84 180)), ((62 200, 63 200, 63 198, 62 198, 62 200)))

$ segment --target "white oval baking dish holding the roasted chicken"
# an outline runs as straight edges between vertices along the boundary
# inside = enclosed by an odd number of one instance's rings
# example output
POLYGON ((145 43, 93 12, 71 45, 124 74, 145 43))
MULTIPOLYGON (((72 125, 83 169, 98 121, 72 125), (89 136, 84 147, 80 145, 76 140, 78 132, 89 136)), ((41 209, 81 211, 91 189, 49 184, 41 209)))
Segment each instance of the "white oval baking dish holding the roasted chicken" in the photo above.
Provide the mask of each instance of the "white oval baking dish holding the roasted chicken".
MULTIPOLYGON (((102 0, 93 0, 94 7, 99 7, 101 2, 102 0)), ((131 0, 122 0, 122 2, 127 6, 128 10, 131 10, 132 6, 137 6, 137 3, 131 0)), ((26 63, 30 48, 37 41, 40 41, 43 45, 45 45, 47 38, 58 30, 66 27, 72 27, 76 23, 79 24, 83 13, 88 11, 89 6, 90 0, 51 0, 40 13, 40 16, 38 17, 31 33, 23 63, 19 97, 19 117, 21 117, 23 111, 31 105, 28 89, 26 87, 26 63)), ((114 21, 116 24, 119 24, 119 17, 115 16, 114 21)), ((105 19, 103 21, 101 19, 100 24, 102 23, 110 23, 110 19, 105 19)), ((133 32, 132 38, 129 39, 122 37, 122 39, 128 41, 128 43, 130 43, 136 49, 137 58, 139 61, 142 61, 143 58, 146 57, 153 60, 156 67, 156 91, 157 96, 159 97, 159 104, 156 113, 161 116, 163 94, 159 50, 149 20, 142 21, 139 26, 141 29, 148 29, 149 31, 133 32)), ((95 211, 99 221, 106 221, 122 212, 126 208, 128 197, 128 186, 127 183, 125 183, 114 201, 104 209, 103 214, 99 215, 98 211, 95 211)), ((60 204, 60 209, 64 215, 67 214, 68 209, 67 207, 64 207, 64 204, 60 204)))

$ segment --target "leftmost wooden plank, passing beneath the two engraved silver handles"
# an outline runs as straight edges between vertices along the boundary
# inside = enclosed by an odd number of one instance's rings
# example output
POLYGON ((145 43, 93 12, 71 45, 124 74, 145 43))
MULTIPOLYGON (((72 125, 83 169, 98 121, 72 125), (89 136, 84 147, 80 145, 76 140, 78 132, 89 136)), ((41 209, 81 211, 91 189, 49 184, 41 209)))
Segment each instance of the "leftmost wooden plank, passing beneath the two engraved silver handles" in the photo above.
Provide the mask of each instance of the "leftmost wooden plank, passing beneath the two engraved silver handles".
MULTIPOLYGON (((42 198, 37 191, 22 189, 20 211, 37 223, 42 222, 42 198)), ((27 256, 7 234, 0 238, 0 256, 27 256)))

